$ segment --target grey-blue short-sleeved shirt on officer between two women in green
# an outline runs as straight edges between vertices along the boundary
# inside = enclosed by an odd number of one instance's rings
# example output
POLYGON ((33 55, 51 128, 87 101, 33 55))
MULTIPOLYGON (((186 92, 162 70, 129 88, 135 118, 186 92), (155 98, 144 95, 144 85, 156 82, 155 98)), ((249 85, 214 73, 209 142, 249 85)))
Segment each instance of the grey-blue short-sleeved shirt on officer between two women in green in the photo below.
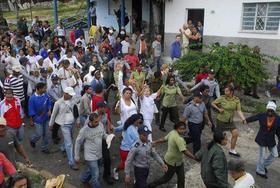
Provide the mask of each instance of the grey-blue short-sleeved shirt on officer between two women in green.
POLYGON ((203 121, 205 109, 206 107, 204 102, 197 105, 191 101, 186 105, 183 117, 187 118, 189 122, 200 124, 203 121))

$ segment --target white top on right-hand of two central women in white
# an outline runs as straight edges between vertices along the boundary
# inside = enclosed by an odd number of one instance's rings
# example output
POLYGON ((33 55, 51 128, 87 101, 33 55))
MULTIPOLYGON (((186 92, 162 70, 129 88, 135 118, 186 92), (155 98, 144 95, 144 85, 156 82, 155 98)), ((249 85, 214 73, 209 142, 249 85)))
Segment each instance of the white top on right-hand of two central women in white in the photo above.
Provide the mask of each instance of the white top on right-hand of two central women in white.
POLYGON ((141 109, 140 113, 143 114, 144 120, 151 120, 154 118, 155 113, 155 102, 154 100, 157 98, 157 93, 153 93, 152 95, 146 97, 143 96, 143 99, 140 100, 141 109))

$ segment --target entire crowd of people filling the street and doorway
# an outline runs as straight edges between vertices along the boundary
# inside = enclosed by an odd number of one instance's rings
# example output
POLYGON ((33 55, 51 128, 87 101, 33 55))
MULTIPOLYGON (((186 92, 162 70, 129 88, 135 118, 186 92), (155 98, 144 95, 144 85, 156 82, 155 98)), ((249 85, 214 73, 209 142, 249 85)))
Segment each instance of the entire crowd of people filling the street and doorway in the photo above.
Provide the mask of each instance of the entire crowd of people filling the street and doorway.
MULTIPOLYGON (((176 37, 179 46, 171 45, 171 49, 177 50, 171 50, 171 58, 187 54, 192 49, 189 42, 201 42, 202 32, 201 22, 198 27, 191 21, 185 24, 176 37)), ((177 187, 184 188, 184 156, 201 162, 201 176, 208 188, 229 187, 228 171, 236 181, 235 188, 251 187, 254 179, 245 171, 242 160, 228 163, 222 149, 227 145, 225 132, 229 131, 232 135, 229 154, 241 157, 235 150, 238 139, 233 121, 235 112, 244 124, 259 121, 256 142, 260 156, 256 173, 268 178, 267 167, 280 150, 275 139, 275 135, 280 137, 275 101, 268 102, 266 112, 246 118, 232 85, 223 86, 224 91, 220 91, 215 70, 207 66, 197 73, 196 84, 186 87, 172 68, 162 62, 159 34, 149 50, 144 34, 129 36, 124 28, 118 32, 114 28, 92 26, 89 36, 85 36, 82 28, 66 33, 62 23, 52 28, 48 21, 42 22, 38 17, 30 27, 21 18, 16 31, 1 29, 1 185, 5 172, 25 183, 22 187, 28 187, 28 178, 16 173, 14 150, 27 165, 31 164, 23 146, 27 138, 25 126, 31 126, 34 132, 28 139, 32 148, 41 141, 40 150, 51 155, 51 135, 53 144, 62 143, 61 151, 67 156, 69 168, 79 170, 81 161, 85 163, 80 177, 85 187, 102 187, 103 168, 103 179, 110 185, 119 180, 121 171, 127 184, 133 183, 134 172, 136 188, 157 187, 176 173, 177 187), (192 97, 187 100, 181 89, 192 93, 192 97), (181 103, 186 103, 183 114, 179 114, 178 96, 181 103), (112 113, 119 121, 113 121, 112 113), (174 129, 155 139, 155 131, 167 132, 168 114, 174 129), (207 146, 201 144, 205 124, 213 131, 213 140, 207 146), (74 138, 76 127, 79 133, 74 138), (122 137, 120 162, 113 168, 110 146, 117 134, 122 137), (156 146, 165 142, 167 151, 162 159, 156 146), (192 149, 188 149, 189 143, 192 149), (268 157, 266 148, 271 153, 268 157), (82 150, 84 160, 80 159, 82 150), (164 175, 148 184, 152 158, 162 167, 164 175)))

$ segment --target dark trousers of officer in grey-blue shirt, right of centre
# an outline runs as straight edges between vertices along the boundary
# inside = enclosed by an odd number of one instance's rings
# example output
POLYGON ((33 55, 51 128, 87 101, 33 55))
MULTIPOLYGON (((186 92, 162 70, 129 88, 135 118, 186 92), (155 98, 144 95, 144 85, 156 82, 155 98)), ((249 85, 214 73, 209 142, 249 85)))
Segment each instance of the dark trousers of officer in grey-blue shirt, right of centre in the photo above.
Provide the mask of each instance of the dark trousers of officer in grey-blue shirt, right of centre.
POLYGON ((200 150, 201 147, 201 133, 203 124, 196 124, 193 122, 188 122, 189 130, 190 130, 190 138, 193 143, 193 153, 195 154, 200 150))

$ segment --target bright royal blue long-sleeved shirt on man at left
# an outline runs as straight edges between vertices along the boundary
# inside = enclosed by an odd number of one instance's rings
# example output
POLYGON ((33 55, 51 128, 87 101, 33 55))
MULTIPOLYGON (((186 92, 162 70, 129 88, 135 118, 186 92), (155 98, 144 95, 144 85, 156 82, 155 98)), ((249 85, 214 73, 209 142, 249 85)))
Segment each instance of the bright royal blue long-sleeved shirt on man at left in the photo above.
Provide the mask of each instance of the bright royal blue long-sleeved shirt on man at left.
POLYGON ((28 101, 28 114, 33 118, 33 122, 37 124, 46 123, 49 119, 48 111, 51 109, 51 101, 49 96, 44 93, 38 95, 34 93, 28 101))

